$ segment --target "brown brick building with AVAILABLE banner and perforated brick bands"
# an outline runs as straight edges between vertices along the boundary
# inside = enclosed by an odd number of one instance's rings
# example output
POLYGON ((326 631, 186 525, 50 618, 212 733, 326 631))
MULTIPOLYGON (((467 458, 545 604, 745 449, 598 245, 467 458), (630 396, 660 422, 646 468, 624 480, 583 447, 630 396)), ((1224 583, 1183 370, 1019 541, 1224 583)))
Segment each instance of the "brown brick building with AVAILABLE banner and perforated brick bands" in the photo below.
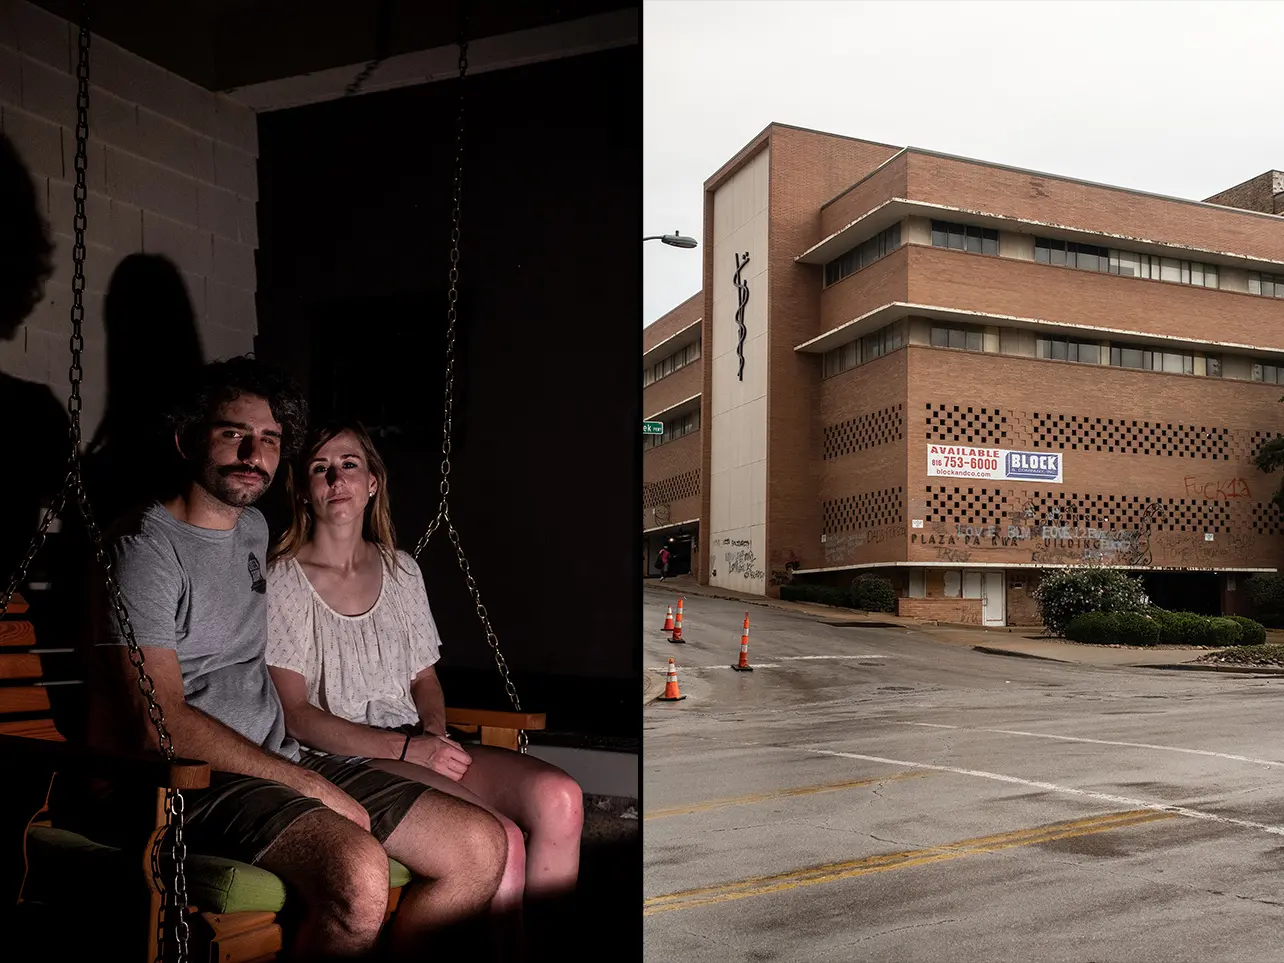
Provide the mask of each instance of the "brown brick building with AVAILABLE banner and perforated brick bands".
POLYGON ((698 467, 697 574, 740 591, 874 571, 903 614, 1030 624, 1043 569, 1095 561, 1239 611, 1284 557, 1253 465, 1281 211, 1274 171, 1195 202, 772 125, 705 182, 701 294, 647 329, 654 362, 704 318, 698 392, 645 389, 702 422, 646 452, 652 507, 698 467))

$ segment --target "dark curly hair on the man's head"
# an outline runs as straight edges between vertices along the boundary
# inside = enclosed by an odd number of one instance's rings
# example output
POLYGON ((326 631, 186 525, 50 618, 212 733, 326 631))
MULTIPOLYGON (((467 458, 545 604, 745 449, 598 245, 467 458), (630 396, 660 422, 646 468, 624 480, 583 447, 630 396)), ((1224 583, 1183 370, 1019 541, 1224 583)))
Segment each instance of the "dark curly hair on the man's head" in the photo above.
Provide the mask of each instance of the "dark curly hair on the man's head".
POLYGON ((281 424, 281 461, 298 455, 307 434, 308 403, 289 375, 248 354, 205 365, 169 411, 169 426, 184 440, 184 448, 189 443, 204 444, 203 435, 218 408, 243 394, 263 398, 281 424))

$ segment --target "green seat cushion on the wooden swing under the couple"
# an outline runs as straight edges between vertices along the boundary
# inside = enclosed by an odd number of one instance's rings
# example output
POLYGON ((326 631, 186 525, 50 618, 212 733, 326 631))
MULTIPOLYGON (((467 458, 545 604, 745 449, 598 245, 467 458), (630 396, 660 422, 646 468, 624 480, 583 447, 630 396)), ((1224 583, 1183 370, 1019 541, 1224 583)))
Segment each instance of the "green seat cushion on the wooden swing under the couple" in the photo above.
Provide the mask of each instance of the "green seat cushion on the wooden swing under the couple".
MULTIPOLYGON (((104 846, 67 829, 32 827, 27 836, 26 898, 36 903, 59 901, 74 881, 77 899, 89 892, 109 899, 123 880, 141 869, 140 859, 126 859, 114 846, 104 846), (127 876, 125 876, 127 874, 127 876)), ((187 896, 205 913, 279 913, 285 905, 285 883, 275 873, 235 859, 187 854, 187 896)), ((134 877, 136 878, 136 877, 134 877)), ((389 887, 404 886, 410 871, 388 860, 389 887)))

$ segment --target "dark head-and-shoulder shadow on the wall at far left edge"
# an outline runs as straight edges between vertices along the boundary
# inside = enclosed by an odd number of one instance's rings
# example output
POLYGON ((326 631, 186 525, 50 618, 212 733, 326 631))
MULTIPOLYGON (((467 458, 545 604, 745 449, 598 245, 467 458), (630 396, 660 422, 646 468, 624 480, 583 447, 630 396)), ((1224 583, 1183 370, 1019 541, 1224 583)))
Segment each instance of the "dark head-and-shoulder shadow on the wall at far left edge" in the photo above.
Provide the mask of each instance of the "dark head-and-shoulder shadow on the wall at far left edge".
MULTIPOLYGON (((36 200, 36 185, 13 143, 0 134, 0 351, 26 356, 23 321, 40 303, 53 273, 53 244, 36 200)), ((26 372, 24 372, 26 374, 26 372)), ((0 370, 0 411, 21 470, 8 473, 0 499, 0 592, 40 525, 42 506, 60 488, 69 421, 46 384, 0 370)))

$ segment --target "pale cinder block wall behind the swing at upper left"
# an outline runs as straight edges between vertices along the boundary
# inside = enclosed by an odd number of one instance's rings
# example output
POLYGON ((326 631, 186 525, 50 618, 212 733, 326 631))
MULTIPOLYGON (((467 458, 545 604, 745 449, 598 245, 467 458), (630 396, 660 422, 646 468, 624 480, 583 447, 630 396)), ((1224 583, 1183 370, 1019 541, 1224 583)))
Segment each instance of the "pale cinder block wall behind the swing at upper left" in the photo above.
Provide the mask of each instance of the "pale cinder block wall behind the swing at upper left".
MULTIPOLYGON (((64 398, 71 361, 78 28, 0 0, 0 130, 36 181, 56 245, 45 299, 0 342, 0 370, 64 398)), ((83 433, 105 401, 103 299, 132 253, 182 272, 205 360, 253 351, 258 247, 254 112, 122 48, 90 44, 83 433)))

